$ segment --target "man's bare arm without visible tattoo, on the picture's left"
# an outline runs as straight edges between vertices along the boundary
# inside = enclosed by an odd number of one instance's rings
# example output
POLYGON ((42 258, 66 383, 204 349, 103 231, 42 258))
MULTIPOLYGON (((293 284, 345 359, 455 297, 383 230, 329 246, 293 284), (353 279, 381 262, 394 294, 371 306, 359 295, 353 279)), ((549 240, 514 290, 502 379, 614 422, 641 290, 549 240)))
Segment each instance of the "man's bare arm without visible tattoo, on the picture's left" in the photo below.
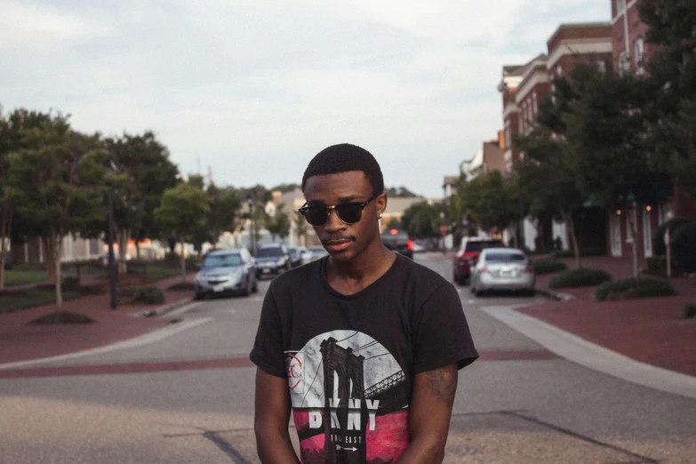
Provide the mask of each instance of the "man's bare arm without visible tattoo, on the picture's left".
POLYGON ((287 380, 256 369, 254 406, 256 450, 264 464, 300 463, 290 441, 290 392, 287 380))

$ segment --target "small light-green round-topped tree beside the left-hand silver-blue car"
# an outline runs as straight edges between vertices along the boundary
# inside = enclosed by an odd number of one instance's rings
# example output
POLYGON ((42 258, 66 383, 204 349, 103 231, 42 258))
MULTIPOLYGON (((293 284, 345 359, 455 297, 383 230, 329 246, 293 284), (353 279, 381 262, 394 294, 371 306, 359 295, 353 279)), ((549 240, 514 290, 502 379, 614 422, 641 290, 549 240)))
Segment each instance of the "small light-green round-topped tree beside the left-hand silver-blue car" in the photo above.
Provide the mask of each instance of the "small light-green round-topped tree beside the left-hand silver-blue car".
POLYGON ((181 279, 186 280, 184 245, 196 231, 204 227, 210 212, 210 200, 204 190, 190 184, 180 184, 164 190, 162 203, 155 210, 160 227, 176 238, 181 247, 181 279))

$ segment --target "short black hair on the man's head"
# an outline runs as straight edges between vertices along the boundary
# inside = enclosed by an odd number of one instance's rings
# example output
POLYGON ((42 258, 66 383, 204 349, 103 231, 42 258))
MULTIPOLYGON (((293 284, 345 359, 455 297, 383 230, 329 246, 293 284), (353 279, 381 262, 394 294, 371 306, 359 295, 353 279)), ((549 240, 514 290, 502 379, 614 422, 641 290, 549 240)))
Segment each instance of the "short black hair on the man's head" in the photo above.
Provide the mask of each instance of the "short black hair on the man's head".
POLYGON ((380 195, 384 192, 384 178, 380 164, 374 159, 372 153, 350 143, 332 145, 317 153, 302 176, 302 190, 305 189, 310 177, 348 171, 364 172, 372 186, 372 195, 380 195))

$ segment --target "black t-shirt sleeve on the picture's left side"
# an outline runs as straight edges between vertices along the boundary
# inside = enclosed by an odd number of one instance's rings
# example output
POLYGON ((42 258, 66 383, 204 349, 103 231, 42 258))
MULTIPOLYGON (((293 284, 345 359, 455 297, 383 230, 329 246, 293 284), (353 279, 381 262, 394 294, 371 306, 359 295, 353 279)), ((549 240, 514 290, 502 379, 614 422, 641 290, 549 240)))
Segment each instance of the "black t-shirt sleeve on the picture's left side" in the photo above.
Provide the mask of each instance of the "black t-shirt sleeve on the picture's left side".
POLYGON ((271 289, 266 293, 261 308, 259 329, 256 332, 252 352, 253 364, 276 377, 287 378, 283 348, 283 329, 278 315, 276 299, 271 289))

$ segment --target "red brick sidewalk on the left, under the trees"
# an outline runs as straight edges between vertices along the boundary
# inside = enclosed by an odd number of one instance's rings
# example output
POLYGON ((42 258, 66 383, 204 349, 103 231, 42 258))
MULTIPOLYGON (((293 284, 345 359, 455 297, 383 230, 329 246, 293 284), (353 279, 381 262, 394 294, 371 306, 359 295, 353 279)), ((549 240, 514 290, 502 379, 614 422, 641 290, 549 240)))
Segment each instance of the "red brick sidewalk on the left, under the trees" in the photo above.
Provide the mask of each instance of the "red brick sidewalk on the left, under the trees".
MULTIPOLYGON (((191 278, 193 276, 188 276, 191 278)), ((180 277, 172 277, 155 283, 164 291, 165 305, 190 300, 191 291, 166 290, 180 281, 180 277)), ((62 311, 88 316, 96 321, 94 324, 28 324, 57 311, 55 304, 0 314, 0 364, 99 348, 152 332, 164 327, 168 321, 135 314, 154 308, 157 306, 121 305, 113 310, 107 293, 63 303, 62 311)))

